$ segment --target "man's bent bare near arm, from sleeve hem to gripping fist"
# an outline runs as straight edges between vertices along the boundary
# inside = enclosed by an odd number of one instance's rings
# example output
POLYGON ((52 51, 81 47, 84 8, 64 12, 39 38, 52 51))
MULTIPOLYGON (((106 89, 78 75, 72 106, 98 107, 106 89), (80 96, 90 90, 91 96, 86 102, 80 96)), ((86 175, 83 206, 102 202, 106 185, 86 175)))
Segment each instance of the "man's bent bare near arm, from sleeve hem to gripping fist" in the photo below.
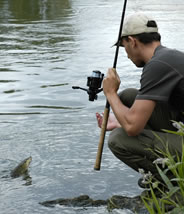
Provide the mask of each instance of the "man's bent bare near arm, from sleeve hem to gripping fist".
POLYGON ((135 100, 132 107, 128 108, 121 102, 117 94, 120 82, 116 70, 109 69, 103 81, 103 91, 120 125, 129 136, 135 136, 144 129, 156 102, 152 100, 135 100))

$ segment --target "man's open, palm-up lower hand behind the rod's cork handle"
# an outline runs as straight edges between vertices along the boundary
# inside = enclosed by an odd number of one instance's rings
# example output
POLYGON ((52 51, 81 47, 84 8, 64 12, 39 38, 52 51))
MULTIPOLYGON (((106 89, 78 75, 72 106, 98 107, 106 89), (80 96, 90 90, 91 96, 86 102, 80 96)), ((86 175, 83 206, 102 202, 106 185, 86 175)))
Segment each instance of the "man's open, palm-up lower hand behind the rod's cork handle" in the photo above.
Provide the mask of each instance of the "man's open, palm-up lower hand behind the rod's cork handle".
MULTIPOLYGON (((97 122, 98 122, 98 127, 101 128, 102 127, 102 122, 103 122, 103 113, 99 114, 97 112, 96 113, 96 119, 97 119, 97 122)), ((114 116, 114 114, 109 114, 106 130, 107 131, 112 131, 113 129, 119 128, 119 127, 121 127, 121 125, 117 121, 117 119, 114 116)))

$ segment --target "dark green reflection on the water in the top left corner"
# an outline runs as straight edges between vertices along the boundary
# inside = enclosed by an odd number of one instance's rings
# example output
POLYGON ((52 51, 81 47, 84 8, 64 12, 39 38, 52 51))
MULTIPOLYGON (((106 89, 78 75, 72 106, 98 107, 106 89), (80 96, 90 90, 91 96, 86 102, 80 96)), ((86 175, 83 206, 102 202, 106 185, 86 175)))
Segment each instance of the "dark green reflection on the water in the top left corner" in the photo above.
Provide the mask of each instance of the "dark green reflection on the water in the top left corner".
POLYGON ((64 19, 70 14, 69 0, 1 0, 0 17, 20 23, 38 20, 64 19))

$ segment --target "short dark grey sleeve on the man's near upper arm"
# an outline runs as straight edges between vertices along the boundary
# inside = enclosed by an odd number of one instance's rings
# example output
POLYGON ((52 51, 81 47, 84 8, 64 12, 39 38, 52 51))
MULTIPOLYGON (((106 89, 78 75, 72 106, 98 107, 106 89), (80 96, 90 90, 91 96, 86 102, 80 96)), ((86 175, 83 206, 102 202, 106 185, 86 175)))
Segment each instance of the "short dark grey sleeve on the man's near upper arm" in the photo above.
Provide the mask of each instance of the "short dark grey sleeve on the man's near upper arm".
POLYGON ((169 64, 153 60, 143 69, 136 99, 167 102, 180 79, 180 74, 169 64))

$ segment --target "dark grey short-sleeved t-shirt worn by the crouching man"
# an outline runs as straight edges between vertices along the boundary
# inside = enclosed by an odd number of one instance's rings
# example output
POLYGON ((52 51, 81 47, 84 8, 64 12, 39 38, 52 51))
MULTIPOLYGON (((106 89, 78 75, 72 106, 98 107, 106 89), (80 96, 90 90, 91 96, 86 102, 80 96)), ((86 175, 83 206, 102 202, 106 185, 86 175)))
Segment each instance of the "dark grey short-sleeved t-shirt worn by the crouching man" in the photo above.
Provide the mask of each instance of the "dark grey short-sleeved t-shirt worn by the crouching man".
POLYGON ((184 53, 158 46, 144 66, 136 99, 166 102, 184 111, 184 53))

